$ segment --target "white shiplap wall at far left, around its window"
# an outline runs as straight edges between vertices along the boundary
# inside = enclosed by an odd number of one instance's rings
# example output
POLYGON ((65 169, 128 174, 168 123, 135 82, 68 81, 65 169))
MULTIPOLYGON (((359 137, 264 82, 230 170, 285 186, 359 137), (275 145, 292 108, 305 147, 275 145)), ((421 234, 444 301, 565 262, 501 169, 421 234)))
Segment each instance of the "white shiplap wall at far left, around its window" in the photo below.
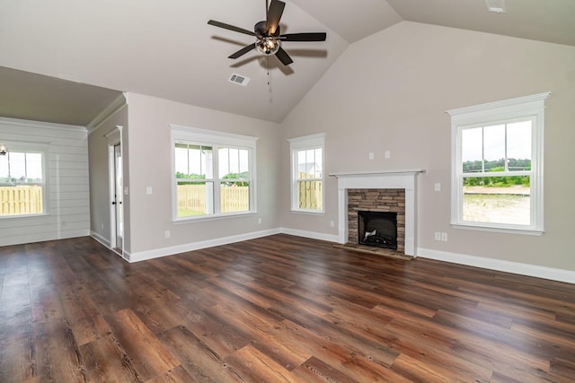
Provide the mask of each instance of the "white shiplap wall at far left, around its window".
POLYGON ((87 132, 65 126, 0 118, 0 141, 46 144, 47 215, 0 219, 0 246, 86 236, 90 229, 87 132))

